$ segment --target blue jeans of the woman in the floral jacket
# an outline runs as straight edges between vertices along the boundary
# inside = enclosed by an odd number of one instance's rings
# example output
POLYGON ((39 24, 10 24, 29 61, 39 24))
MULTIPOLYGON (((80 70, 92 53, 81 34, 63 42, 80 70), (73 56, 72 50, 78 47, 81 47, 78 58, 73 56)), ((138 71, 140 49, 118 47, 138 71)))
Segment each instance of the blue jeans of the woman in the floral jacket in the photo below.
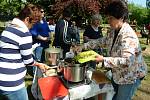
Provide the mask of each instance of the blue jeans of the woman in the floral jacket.
POLYGON ((115 84, 114 82, 112 82, 112 84, 116 92, 112 100, 131 100, 135 91, 141 84, 141 80, 137 79, 133 84, 120 85, 115 84))

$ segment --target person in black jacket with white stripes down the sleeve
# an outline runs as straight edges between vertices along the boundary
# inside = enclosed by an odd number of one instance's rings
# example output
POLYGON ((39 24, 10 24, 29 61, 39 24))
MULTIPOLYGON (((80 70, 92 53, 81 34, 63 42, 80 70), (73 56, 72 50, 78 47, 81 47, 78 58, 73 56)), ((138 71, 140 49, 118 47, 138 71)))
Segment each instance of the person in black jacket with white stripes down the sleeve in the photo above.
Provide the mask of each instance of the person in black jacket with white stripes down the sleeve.
POLYGON ((70 51, 71 47, 71 33, 69 32, 70 19, 72 12, 69 8, 64 9, 63 17, 56 23, 55 36, 53 46, 60 47, 63 50, 63 57, 70 51))

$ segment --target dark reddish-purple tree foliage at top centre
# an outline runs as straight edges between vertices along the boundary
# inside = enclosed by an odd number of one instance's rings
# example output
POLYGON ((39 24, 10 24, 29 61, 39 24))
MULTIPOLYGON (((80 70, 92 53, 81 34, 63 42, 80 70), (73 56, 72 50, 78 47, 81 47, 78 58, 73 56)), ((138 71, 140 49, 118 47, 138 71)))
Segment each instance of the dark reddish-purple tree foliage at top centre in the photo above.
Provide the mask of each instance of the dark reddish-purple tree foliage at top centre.
POLYGON ((72 9, 73 20, 77 25, 86 23, 91 15, 104 12, 104 8, 111 0, 55 0, 51 6, 51 14, 59 19, 65 8, 72 9))

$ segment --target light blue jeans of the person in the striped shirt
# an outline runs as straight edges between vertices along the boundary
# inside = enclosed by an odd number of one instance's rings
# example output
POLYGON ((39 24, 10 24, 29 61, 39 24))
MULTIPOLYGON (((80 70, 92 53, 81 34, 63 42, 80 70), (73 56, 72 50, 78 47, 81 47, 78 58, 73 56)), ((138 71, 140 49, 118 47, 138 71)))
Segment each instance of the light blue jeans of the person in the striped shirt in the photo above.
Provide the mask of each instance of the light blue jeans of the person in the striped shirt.
POLYGON ((0 91, 0 100, 28 100, 27 89, 24 87, 17 91, 0 91))

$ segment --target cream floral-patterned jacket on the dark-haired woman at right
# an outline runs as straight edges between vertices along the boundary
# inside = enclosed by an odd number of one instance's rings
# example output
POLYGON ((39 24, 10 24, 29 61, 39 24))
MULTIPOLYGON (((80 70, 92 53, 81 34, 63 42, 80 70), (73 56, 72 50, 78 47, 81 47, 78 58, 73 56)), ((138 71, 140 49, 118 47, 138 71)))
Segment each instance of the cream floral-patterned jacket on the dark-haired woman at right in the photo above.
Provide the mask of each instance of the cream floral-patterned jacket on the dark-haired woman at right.
POLYGON ((104 57, 104 67, 112 69, 113 80, 117 84, 131 84, 137 78, 145 76, 147 66, 142 57, 138 37, 130 25, 123 24, 112 46, 113 38, 114 31, 108 33, 107 37, 85 43, 83 48, 108 48, 109 57, 104 57))

